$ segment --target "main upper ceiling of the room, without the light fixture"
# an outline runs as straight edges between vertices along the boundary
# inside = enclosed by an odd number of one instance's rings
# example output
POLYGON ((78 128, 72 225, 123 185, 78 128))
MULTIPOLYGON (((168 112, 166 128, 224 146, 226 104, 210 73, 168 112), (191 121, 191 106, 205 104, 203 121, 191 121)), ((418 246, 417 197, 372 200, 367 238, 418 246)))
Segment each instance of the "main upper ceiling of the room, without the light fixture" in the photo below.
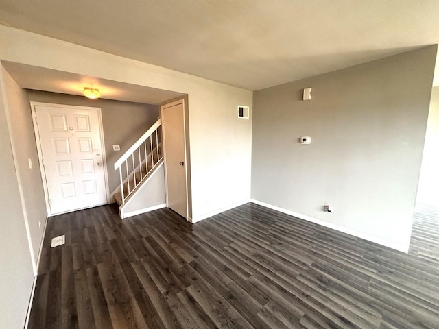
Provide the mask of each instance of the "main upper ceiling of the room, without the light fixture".
POLYGON ((439 1, 0 0, 0 23, 259 90, 438 43, 439 1))

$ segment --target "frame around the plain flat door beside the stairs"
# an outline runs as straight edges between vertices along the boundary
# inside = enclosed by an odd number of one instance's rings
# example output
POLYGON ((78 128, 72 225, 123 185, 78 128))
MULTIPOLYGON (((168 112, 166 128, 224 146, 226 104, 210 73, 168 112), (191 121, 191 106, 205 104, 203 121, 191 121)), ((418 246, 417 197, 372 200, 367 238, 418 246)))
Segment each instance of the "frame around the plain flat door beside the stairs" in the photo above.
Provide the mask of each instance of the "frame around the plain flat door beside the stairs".
POLYGON ((166 206, 169 206, 169 200, 168 200, 168 184, 167 184, 167 163, 166 163, 166 138, 165 138, 165 130, 164 127, 166 125, 166 121, 163 121, 164 116, 163 116, 163 110, 165 110, 165 108, 171 108, 173 106, 177 106, 179 104, 182 104, 183 106, 183 134, 185 136, 185 180, 186 180, 186 217, 185 219, 187 221, 190 221, 189 219, 189 182, 187 180, 188 177, 188 163, 187 163, 187 141, 186 141, 186 106, 185 106, 185 99, 178 99, 177 101, 172 101, 171 103, 165 103, 163 105, 160 106, 160 117, 162 119, 162 143, 163 143, 163 158, 165 159, 165 194, 166 194, 166 206))

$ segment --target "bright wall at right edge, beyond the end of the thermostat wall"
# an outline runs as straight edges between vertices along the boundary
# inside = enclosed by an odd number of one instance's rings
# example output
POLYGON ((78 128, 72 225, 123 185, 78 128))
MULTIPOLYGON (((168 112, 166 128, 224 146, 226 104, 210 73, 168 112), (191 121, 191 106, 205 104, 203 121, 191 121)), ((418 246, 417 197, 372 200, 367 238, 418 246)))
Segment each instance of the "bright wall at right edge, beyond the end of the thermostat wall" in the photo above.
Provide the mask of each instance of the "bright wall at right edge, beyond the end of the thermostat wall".
POLYGON ((431 92, 416 202, 439 205, 439 87, 433 88, 431 92))

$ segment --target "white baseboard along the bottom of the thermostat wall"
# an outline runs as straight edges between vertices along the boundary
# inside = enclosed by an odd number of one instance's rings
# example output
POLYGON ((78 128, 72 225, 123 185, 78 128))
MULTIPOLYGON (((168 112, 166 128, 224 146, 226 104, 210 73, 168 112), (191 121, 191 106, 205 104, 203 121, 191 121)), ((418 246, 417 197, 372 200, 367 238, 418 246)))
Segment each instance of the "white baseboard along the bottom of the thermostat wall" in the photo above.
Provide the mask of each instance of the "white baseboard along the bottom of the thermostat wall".
POLYGON ((383 245, 384 247, 389 247, 395 250, 398 250, 399 252, 405 252, 406 254, 409 252, 409 247, 410 245, 399 245, 398 243, 393 243, 387 240, 383 240, 380 238, 377 238, 376 236, 371 236, 369 234, 364 234, 362 232, 358 232, 355 230, 351 230, 350 228, 345 228, 344 226, 339 226, 339 225, 335 225, 333 223, 328 223, 327 221, 322 221, 322 219, 316 219, 314 217, 311 216, 307 216, 307 215, 302 215, 299 214, 298 212, 294 212, 292 210, 287 210, 278 206, 272 206, 271 204, 265 204, 265 202, 261 202, 255 199, 250 199, 250 202, 254 203, 254 204, 259 204, 259 206, 263 206, 265 208, 270 208, 272 210, 276 210, 278 212, 283 212, 284 214, 293 216, 293 217, 298 217, 300 219, 303 219, 305 221, 310 221, 311 223, 316 223, 320 226, 324 226, 326 228, 332 228, 333 230, 337 230, 340 232, 344 232, 346 234, 352 235, 352 236, 356 236, 357 238, 360 239, 364 239, 373 243, 378 243, 379 245, 383 245))

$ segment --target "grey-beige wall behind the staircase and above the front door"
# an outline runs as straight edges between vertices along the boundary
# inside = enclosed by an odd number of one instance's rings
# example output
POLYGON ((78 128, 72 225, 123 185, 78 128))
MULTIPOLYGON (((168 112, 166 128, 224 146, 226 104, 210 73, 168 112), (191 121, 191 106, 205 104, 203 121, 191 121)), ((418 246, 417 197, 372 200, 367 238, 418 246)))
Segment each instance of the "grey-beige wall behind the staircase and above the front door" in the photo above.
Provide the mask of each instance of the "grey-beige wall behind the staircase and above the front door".
POLYGON ((114 169, 115 162, 158 118, 158 106, 155 105, 109 99, 92 100, 81 96, 37 90, 27 90, 27 95, 30 101, 101 108, 110 193, 120 184, 119 171, 114 169), (119 144, 121 150, 113 151, 113 144, 119 144))

